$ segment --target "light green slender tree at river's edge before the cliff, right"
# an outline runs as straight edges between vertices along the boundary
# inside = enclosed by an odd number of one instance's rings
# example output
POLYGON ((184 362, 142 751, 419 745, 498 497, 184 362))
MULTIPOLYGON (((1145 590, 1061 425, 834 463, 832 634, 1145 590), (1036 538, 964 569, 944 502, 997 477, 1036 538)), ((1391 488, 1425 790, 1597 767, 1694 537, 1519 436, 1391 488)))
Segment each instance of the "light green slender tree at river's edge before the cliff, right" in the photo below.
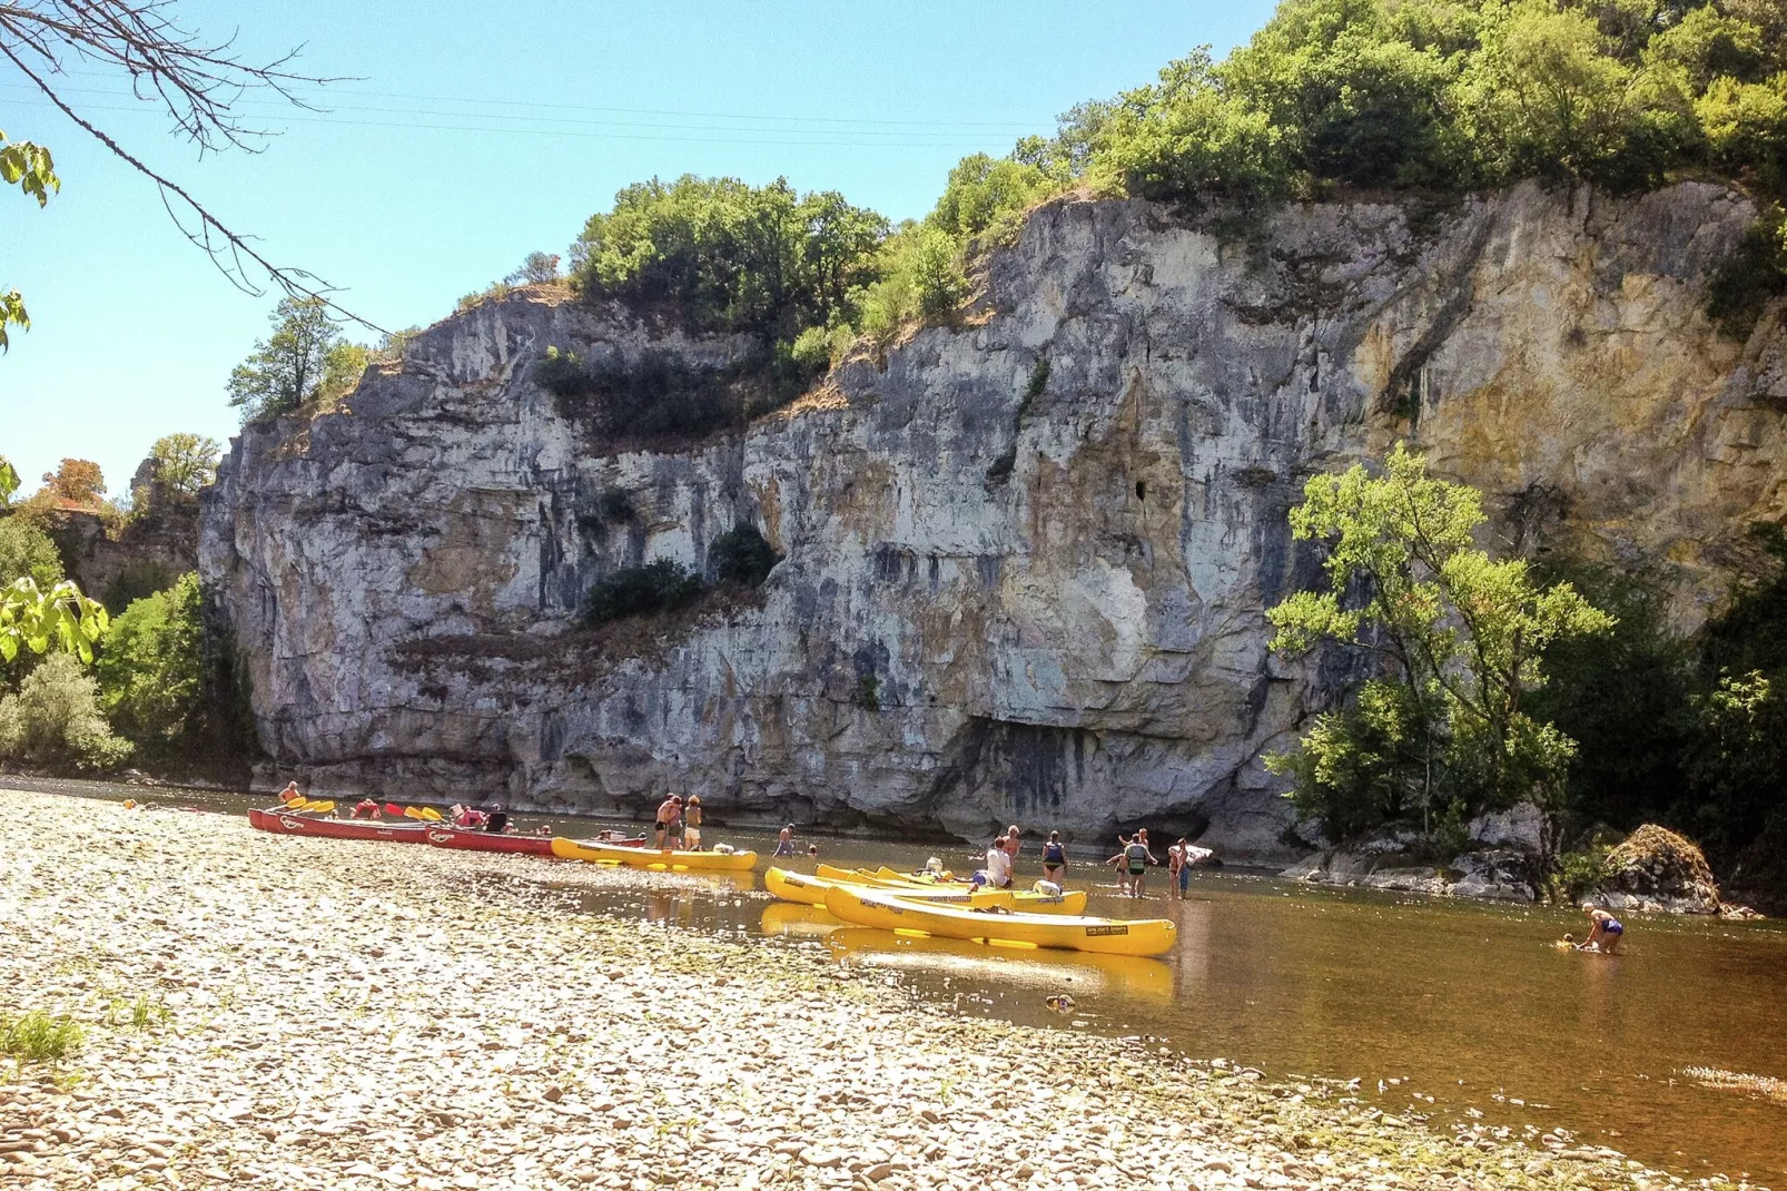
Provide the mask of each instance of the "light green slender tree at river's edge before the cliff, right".
POLYGON ((1267 613, 1274 649, 1333 640, 1378 663, 1355 706, 1322 712, 1269 762, 1331 839, 1415 817, 1433 840, 1515 801, 1562 808, 1574 742, 1524 697, 1546 681, 1548 646, 1614 619, 1569 583, 1542 588, 1524 562, 1478 549, 1485 520, 1474 488, 1433 479, 1401 443, 1381 476, 1315 476, 1290 511, 1297 540, 1326 545, 1328 587, 1267 613))

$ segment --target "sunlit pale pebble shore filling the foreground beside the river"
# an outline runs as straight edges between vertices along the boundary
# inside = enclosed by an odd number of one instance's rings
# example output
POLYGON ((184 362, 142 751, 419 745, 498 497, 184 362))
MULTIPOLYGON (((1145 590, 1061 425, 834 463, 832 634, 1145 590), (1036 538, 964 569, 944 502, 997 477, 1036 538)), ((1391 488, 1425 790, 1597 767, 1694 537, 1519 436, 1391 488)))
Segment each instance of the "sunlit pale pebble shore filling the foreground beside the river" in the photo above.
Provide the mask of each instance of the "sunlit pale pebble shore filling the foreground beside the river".
POLYGON ((534 883, 690 878, 9 790, 0 815, 0 1010, 86 1025, 55 1069, 0 1060, 0 1184, 1680 1182, 1569 1137, 1439 1134, 1342 1084, 958 1016, 534 883))

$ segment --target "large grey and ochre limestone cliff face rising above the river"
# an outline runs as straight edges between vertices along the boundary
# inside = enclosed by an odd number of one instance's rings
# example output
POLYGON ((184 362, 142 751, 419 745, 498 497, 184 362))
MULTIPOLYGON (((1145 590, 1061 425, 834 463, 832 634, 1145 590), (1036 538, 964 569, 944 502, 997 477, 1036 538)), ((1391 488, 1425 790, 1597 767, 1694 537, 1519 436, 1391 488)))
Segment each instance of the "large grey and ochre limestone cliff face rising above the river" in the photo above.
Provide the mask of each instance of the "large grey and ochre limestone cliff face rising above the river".
POLYGON ((420 334, 350 413, 252 427, 206 497, 213 613, 281 778, 715 821, 1086 839, 1149 823, 1301 855, 1260 756, 1349 678, 1269 655, 1315 579, 1285 511, 1396 438, 1498 533, 1669 562, 1678 612, 1782 511, 1783 338, 1701 313, 1741 197, 1537 186, 1446 211, 1288 207, 1222 240, 1144 202, 1038 211, 965 325, 858 356, 749 429, 599 442, 531 368, 743 343, 524 290, 420 334), (636 517, 602 524, 609 490, 636 517), (706 562, 756 599, 577 628, 602 574, 706 562))

